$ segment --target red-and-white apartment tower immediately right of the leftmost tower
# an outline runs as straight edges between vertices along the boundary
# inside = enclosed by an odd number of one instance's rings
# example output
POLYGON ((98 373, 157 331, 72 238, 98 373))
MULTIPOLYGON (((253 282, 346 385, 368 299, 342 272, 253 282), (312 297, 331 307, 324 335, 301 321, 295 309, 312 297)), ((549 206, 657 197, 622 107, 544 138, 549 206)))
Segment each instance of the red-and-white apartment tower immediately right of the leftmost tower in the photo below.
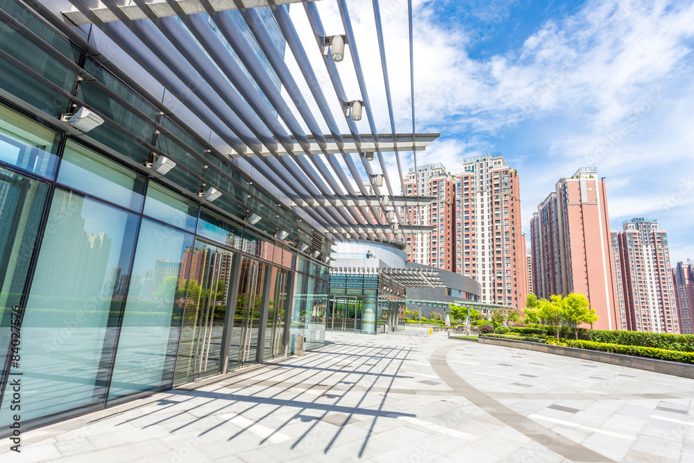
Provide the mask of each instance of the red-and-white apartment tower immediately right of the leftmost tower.
POLYGON ((457 273, 482 284, 482 302, 523 308, 527 263, 518 173, 501 153, 466 158, 455 193, 457 273))

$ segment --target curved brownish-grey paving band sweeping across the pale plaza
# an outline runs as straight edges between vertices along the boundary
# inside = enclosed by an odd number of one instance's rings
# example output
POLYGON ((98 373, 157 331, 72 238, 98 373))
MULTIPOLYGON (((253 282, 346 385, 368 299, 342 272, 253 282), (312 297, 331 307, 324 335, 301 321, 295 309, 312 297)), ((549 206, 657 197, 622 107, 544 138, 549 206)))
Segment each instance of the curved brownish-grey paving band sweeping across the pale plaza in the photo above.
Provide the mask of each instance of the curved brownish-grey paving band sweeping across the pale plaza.
POLYGON ((556 432, 545 428, 539 423, 514 412, 509 407, 497 402, 484 392, 471 386, 458 376, 455 371, 448 365, 446 355, 454 348, 461 348, 461 344, 453 344, 451 346, 443 346, 435 350, 429 361, 434 372, 439 375, 439 378, 453 389, 457 394, 471 401, 473 405, 480 407, 484 412, 498 419, 506 426, 514 428, 521 432, 525 437, 529 437, 537 444, 548 448, 550 451, 558 453, 573 462, 614 462, 609 457, 605 457, 600 453, 592 451, 580 444, 571 441, 570 439, 557 434, 556 432), (513 417, 509 419, 509 417, 513 417), (542 439, 538 439, 538 435, 542 435, 542 439))

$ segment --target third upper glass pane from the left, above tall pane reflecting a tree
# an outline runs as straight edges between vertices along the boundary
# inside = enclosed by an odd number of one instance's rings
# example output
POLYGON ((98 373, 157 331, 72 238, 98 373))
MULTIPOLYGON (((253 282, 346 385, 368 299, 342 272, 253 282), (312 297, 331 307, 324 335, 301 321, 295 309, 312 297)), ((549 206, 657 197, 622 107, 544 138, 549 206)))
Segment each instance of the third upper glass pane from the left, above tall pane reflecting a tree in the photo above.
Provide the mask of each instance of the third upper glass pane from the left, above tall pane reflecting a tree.
POLYGON ((144 202, 144 214, 194 232, 198 220, 198 205, 158 183, 150 182, 144 202))

